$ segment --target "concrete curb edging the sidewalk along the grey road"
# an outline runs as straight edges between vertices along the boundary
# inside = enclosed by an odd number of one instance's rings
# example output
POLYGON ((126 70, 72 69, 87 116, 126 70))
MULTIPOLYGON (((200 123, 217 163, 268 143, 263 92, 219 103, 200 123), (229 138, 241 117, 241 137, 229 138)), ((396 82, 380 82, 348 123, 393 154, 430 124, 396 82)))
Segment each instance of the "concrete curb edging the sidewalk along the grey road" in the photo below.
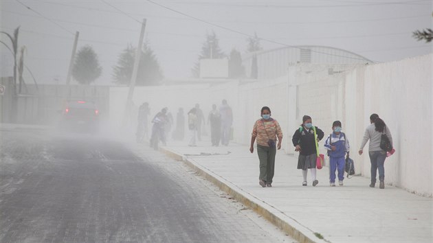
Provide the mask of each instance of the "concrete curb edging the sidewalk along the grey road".
POLYGON ((193 159, 186 157, 184 154, 179 154, 168 148, 159 148, 160 151, 164 152, 168 157, 175 159, 177 161, 183 161, 192 170, 195 170, 199 175, 206 178, 208 181, 212 182, 214 185, 219 187, 223 192, 229 194, 239 202, 241 202, 245 207, 256 211, 266 218, 269 222, 274 224, 276 227, 282 229, 288 233, 292 238, 298 240, 301 243, 312 243, 312 242, 329 242, 328 240, 322 238, 320 239, 318 235, 311 230, 300 224, 293 218, 285 215, 282 211, 268 205, 265 201, 255 198, 254 196, 243 191, 240 187, 230 183, 230 181, 225 180, 225 178, 215 174, 214 172, 208 170, 206 167, 199 165, 193 159))

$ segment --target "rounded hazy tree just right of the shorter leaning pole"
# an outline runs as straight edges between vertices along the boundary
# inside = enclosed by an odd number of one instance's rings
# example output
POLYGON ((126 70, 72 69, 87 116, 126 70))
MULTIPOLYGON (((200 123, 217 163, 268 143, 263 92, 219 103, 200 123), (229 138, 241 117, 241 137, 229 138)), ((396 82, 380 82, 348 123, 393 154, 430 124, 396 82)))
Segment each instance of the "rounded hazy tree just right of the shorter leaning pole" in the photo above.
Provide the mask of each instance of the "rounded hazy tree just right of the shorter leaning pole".
POLYGON ((93 48, 89 45, 81 47, 72 67, 72 77, 80 84, 90 84, 99 78, 101 73, 102 67, 93 48))

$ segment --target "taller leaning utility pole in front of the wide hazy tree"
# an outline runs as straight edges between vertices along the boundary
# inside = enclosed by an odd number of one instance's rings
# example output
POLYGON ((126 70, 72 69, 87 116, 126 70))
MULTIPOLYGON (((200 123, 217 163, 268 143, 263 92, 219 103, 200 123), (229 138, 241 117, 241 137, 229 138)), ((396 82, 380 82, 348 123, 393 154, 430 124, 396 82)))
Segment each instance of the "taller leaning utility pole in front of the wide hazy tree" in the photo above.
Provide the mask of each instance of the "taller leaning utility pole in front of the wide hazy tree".
POLYGON ((143 19, 142 22, 142 31, 140 32, 140 38, 138 39, 138 45, 135 49, 135 60, 134 60, 134 67, 133 67, 133 73, 131 76, 131 82, 129 82, 129 92, 128 92, 128 98, 126 100, 126 107, 125 107, 125 113, 123 117, 123 126, 126 125, 126 122, 129 121, 129 118, 131 117, 131 108, 132 108, 132 98, 135 88, 135 82, 137 82, 137 73, 138 68, 140 64, 140 56, 142 56, 142 46, 143 46, 143 38, 144 38, 144 30, 146 29, 146 19, 143 19))

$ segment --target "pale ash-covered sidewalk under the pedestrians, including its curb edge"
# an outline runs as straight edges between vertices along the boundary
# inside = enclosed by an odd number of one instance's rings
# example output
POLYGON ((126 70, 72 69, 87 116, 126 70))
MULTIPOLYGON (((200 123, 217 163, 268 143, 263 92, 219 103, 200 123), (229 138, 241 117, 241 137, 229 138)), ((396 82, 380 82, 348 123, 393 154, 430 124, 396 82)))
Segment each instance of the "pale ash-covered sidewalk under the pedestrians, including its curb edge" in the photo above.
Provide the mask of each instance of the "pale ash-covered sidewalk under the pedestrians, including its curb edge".
POLYGON ((263 188, 258 185, 256 151, 208 143, 188 147, 171 142, 162 150, 186 161, 300 242, 433 242, 432 198, 389 185, 379 189, 379 183, 370 188, 370 180, 361 176, 346 178, 342 187, 329 187, 327 167, 318 170, 318 186, 311 186, 309 174, 309 185, 302 187, 296 157, 282 151, 276 156, 273 187, 263 188))

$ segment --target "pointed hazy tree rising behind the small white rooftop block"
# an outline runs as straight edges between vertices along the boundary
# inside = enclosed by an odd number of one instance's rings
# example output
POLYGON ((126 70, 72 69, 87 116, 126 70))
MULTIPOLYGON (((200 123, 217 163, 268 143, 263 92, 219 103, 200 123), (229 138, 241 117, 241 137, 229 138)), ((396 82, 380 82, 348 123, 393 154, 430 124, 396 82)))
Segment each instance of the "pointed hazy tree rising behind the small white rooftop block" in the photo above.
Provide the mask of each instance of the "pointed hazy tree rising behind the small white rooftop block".
POLYGON ((192 76, 195 78, 199 78, 200 76, 200 60, 201 59, 219 59, 224 58, 225 54, 221 51, 219 47, 219 39, 216 37, 215 32, 212 34, 206 34, 206 40, 203 42, 203 46, 201 47, 201 53, 199 55, 199 61, 195 63, 195 66, 192 68, 192 76))

